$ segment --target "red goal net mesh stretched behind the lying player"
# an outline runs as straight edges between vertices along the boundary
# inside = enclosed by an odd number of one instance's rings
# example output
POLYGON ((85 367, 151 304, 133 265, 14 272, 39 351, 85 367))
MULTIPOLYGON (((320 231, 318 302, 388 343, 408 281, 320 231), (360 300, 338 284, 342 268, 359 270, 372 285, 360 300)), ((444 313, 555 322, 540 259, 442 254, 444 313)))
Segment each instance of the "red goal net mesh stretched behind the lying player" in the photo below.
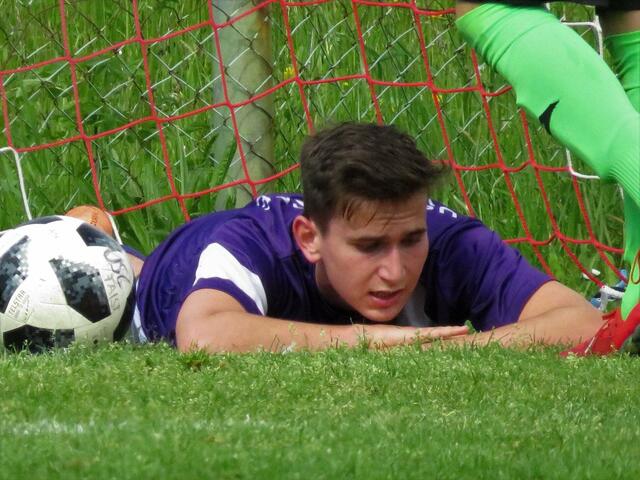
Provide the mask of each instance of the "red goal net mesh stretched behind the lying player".
MULTIPOLYGON (((113 2, 99 14, 76 3, 51 2, 41 16, 16 9, 8 14, 12 27, 3 29, 4 142, 22 155, 27 175, 33 165, 29 196, 37 213, 81 202, 97 203, 118 221, 148 211, 136 222, 153 225, 152 244, 215 208, 221 191, 244 186, 255 196, 263 186, 297 187, 295 151, 316 125, 394 122, 451 167, 456 188, 443 196, 452 208, 480 216, 561 280, 582 272, 600 283, 591 272, 603 266, 620 276, 617 191, 573 174, 563 150, 528 122, 509 86, 457 36, 450 2, 269 0, 225 11, 224 2, 208 1, 194 2, 188 15, 172 11, 173 2, 113 2), (247 22, 260 25, 247 30, 247 22), (273 58, 260 53, 258 61, 272 71, 249 91, 230 71, 262 48, 257 42, 266 37, 247 32, 266 29, 273 58), (246 40, 246 52, 228 58, 224 35, 232 30, 246 40), (319 65, 322 56, 329 60, 319 65), (110 75, 112 82, 97 80, 110 75), (425 110, 415 113, 420 105, 425 110), (263 137, 248 140, 241 125, 252 106, 275 129, 275 158, 258 158, 268 165, 260 174, 252 173, 250 156, 263 137), (232 154, 212 153, 223 134, 233 138, 232 154), (227 175, 231 157, 234 178, 227 175), (222 164, 224 174, 202 178, 222 164), (64 199, 42 193, 49 182, 62 185, 64 199), (602 198, 614 208, 603 211, 602 198), (571 225, 563 224, 567 217, 571 225)), ((588 29, 585 35, 593 41, 588 29)), ((140 230, 131 226, 129 240, 140 230)))

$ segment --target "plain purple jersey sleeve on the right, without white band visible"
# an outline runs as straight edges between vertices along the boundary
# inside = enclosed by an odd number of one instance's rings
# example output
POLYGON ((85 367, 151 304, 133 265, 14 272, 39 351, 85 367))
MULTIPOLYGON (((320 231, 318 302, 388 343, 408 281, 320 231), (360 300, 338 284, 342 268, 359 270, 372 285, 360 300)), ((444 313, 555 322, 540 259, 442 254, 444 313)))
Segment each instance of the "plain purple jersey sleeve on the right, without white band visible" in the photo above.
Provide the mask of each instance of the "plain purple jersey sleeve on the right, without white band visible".
MULTIPOLYGON (((435 246, 440 316, 470 320, 480 331, 515 323, 531 296, 552 278, 478 220, 453 228, 435 246)), ((436 317, 439 315, 436 313, 436 317)))

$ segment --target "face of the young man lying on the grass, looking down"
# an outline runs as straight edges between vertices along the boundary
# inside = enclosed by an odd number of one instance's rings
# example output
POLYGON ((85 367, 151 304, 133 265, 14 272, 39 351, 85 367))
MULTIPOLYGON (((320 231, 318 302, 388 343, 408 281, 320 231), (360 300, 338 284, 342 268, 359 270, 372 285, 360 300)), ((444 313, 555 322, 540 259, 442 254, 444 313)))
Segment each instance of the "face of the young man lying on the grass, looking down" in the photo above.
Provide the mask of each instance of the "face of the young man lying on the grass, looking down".
POLYGON ((393 320, 418 283, 429 250, 426 198, 362 203, 318 233, 316 281, 332 303, 374 322, 393 320))

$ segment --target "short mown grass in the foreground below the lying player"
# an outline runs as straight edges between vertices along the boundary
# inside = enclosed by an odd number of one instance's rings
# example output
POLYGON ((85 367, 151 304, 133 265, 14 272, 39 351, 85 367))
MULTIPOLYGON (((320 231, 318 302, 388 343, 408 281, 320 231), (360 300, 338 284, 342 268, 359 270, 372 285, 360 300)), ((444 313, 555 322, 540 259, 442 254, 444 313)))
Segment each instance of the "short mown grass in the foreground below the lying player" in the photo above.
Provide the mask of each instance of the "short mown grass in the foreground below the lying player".
POLYGON ((7 355, 0 478, 638 478, 639 360, 556 353, 7 355))

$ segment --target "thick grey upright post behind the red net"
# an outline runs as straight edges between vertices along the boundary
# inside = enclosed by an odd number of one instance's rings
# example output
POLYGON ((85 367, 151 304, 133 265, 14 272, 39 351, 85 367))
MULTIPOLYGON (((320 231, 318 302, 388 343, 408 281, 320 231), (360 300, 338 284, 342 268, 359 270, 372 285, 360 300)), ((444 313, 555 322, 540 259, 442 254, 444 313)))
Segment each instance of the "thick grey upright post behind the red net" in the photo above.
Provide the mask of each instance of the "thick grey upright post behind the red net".
MULTIPOLYGON (((219 0, 213 3, 213 14, 217 24, 237 18, 254 7, 252 0, 219 0)), ((271 29, 266 9, 259 9, 246 17, 218 30, 223 72, 216 63, 214 71, 214 101, 236 104, 254 97, 271 86, 272 55, 271 29), (226 83, 226 95, 223 79, 226 83)), ((214 44, 214 48, 216 48, 214 44)), ((232 121, 232 112, 222 107, 214 113, 213 127, 217 130, 214 158, 218 164, 229 164, 224 183, 246 178, 242 168, 239 146, 242 147, 249 177, 252 181, 266 178, 275 172, 273 168, 273 116, 272 96, 267 96, 245 106, 233 109, 238 134, 238 145, 232 121)), ((266 185, 258 187, 265 191, 266 185)), ((218 194, 216 209, 241 206, 251 199, 251 187, 243 184, 238 188, 224 190, 218 194), (229 205, 231 195, 235 200, 229 205)))

